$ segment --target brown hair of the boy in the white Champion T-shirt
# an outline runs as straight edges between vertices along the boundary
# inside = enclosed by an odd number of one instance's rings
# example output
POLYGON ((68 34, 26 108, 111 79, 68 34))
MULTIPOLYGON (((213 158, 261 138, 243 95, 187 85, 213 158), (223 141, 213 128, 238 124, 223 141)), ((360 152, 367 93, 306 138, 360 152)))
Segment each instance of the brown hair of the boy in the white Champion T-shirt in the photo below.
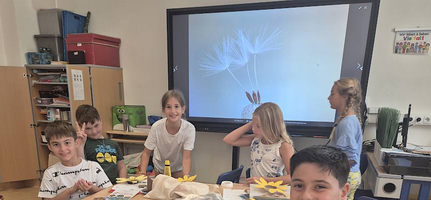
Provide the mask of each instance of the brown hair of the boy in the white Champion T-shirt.
POLYGON ((45 137, 47 138, 48 144, 51 138, 61 138, 61 137, 73 137, 77 139, 76 130, 73 128, 72 124, 66 121, 57 120, 49 123, 44 130, 45 137))

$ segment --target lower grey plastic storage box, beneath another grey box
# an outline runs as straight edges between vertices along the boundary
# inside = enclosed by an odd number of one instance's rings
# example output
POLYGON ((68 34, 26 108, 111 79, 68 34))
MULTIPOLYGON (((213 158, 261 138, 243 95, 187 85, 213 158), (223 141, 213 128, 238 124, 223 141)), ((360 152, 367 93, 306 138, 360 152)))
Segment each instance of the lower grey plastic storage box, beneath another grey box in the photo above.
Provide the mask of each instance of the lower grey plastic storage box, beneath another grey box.
POLYGON ((50 48, 54 61, 65 61, 64 41, 61 35, 35 35, 38 48, 50 48))

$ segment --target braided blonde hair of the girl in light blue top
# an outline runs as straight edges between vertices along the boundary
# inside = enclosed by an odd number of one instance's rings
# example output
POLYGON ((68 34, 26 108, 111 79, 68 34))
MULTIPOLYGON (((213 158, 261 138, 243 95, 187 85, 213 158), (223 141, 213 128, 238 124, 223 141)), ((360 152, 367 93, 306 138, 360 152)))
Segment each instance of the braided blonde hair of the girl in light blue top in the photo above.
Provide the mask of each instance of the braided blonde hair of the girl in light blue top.
POLYGON ((346 109, 338 118, 337 123, 339 123, 344 117, 346 117, 347 111, 350 108, 353 108, 355 115, 358 117, 359 122, 362 124, 362 118, 360 114, 362 91, 361 84, 359 83, 359 81, 355 78, 342 78, 338 81, 335 81, 334 85, 337 86, 337 91, 338 93, 340 93, 340 95, 347 96, 346 109))

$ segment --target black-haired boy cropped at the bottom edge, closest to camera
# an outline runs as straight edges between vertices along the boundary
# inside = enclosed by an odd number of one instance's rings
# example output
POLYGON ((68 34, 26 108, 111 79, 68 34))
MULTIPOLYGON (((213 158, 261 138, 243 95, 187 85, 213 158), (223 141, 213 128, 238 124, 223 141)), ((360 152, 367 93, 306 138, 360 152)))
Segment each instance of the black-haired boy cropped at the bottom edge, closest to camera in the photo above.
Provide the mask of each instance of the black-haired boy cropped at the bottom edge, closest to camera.
POLYGON ((317 145, 295 153, 290 159, 290 199, 347 198, 347 156, 332 146, 317 145))

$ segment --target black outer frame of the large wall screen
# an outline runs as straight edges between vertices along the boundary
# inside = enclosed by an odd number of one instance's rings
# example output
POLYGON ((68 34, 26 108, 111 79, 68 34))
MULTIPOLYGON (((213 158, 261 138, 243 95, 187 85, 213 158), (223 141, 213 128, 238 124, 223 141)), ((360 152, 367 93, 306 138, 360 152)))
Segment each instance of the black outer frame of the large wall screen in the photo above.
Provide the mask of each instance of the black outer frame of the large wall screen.
MULTIPOLYGON (((363 70, 361 76, 361 89, 362 100, 365 100, 368 77, 370 72, 371 57, 373 51, 375 30, 377 26, 377 16, 380 0, 304 0, 304 1, 280 1, 280 2, 264 2, 264 3, 251 3, 251 4, 237 4, 237 5, 223 5, 223 6, 208 6, 208 7, 192 7, 192 8, 179 8, 167 9, 167 57, 168 57, 168 87, 169 90, 174 89, 174 76, 173 76, 173 32, 172 32, 172 17, 175 15, 188 15, 188 14, 203 14, 203 13, 222 13, 222 12, 235 12, 235 11, 254 11, 254 10, 267 10, 267 9, 282 9, 282 8, 297 8, 297 7, 311 7, 311 6, 327 6, 327 5, 340 5, 340 4, 361 4, 371 3, 370 23, 368 27, 367 43, 364 54, 363 70)), ((335 80, 334 80, 335 81, 335 80)), ((226 122, 201 122, 189 121, 192 123, 196 131, 205 132, 222 132, 228 133, 236 128, 244 125, 244 123, 226 123, 226 122)), ((332 127, 320 126, 298 126, 287 125, 287 130, 292 136, 303 137, 322 137, 327 138, 332 130, 332 127)))

